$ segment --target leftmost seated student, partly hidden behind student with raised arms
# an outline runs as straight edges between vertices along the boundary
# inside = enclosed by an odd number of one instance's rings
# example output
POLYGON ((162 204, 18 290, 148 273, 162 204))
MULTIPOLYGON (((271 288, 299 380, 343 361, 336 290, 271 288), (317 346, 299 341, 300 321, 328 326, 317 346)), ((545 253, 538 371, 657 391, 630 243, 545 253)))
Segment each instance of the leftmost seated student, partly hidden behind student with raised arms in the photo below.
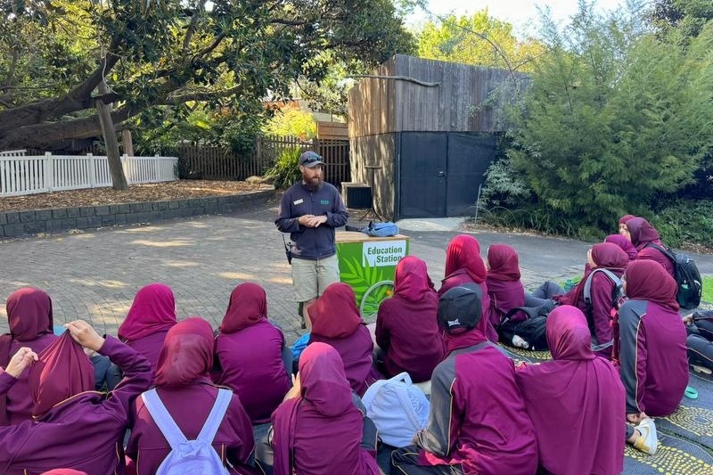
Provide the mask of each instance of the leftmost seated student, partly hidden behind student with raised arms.
MULTIPOLYGON (((20 347, 35 353, 47 348, 57 337, 53 333, 52 299, 44 291, 30 287, 12 292, 5 303, 10 333, 0 336, 0 366, 5 367, 20 347)), ((4 396, 0 396, 0 425, 29 421, 28 372, 23 372, 4 396)))

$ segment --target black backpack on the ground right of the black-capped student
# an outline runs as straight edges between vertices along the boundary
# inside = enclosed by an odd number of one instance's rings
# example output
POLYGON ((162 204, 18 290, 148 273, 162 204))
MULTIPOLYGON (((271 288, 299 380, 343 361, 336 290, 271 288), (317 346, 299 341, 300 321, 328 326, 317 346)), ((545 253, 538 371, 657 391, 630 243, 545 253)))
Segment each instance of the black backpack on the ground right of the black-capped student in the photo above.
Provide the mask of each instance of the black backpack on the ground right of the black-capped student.
MULTIPOLYGON (((533 351, 543 351, 547 345, 547 315, 553 309, 554 303, 545 303, 540 307, 514 307, 505 314, 503 321, 497 327, 500 340, 510 344, 515 336, 525 341, 522 348, 533 351), (512 322, 512 316, 523 312, 527 318, 519 323, 512 322), (527 345, 527 346, 525 346, 527 345)), ((514 342, 513 342, 514 344, 514 342)))

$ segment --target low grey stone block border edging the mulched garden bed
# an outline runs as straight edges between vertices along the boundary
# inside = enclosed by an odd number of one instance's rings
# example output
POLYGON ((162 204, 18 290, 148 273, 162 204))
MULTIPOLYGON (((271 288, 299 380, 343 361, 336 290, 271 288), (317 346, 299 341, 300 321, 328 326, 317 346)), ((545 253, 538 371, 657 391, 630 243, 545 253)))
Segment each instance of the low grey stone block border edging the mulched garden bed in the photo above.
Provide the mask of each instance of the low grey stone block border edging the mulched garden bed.
POLYGON ((0 212, 0 239, 26 237, 37 233, 63 233, 72 229, 154 223, 176 217, 230 213, 253 208, 274 197, 275 190, 263 190, 184 200, 5 211, 0 212))

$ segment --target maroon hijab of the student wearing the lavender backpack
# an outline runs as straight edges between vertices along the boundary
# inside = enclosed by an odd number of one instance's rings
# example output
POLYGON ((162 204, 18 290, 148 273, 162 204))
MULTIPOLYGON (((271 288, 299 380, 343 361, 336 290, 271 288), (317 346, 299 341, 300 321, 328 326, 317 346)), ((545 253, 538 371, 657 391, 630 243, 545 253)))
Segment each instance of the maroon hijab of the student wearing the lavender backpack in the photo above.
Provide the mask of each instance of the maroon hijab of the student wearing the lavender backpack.
POLYGON ((210 323, 192 316, 176 323, 163 342, 156 367, 156 386, 186 386, 209 382, 214 339, 210 323))

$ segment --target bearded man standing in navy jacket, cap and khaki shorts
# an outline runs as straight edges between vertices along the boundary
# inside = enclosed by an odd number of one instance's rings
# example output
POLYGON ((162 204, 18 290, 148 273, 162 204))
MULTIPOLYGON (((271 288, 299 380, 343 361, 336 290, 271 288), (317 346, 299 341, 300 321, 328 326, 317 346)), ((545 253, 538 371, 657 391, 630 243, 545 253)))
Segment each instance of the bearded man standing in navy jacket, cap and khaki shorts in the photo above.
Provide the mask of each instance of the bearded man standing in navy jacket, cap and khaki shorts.
POLYGON ((340 281, 334 228, 346 225, 349 217, 340 192, 322 179, 323 164, 315 152, 299 156, 302 180, 284 192, 275 219, 277 229, 290 233, 292 287, 308 328, 312 324, 305 309, 327 285, 340 281))

